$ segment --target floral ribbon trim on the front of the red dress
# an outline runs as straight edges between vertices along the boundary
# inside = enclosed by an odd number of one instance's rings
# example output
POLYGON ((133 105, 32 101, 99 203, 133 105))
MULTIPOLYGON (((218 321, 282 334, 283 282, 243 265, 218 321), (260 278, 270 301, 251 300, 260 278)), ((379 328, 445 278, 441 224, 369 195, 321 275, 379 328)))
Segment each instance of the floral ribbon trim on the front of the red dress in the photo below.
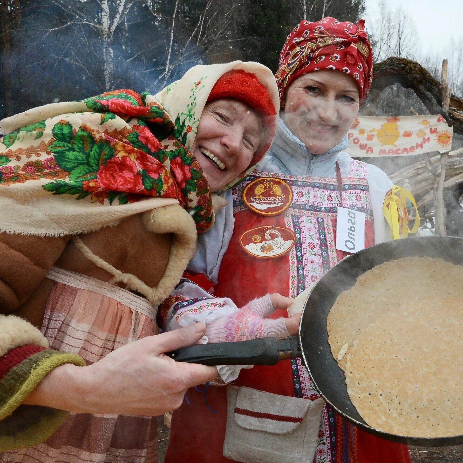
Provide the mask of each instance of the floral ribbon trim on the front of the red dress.
MULTIPOLYGON (((314 284, 337 262, 335 222, 340 206, 340 192, 336 178, 298 177, 269 172, 252 171, 246 179, 233 188, 233 211, 237 213, 247 209, 242 199, 243 190, 250 181, 258 177, 275 177, 288 182, 293 190, 291 206, 284 212, 285 225, 294 232, 294 247, 289 251, 289 295, 296 297, 304 289, 314 284)), ((349 177, 342 179, 343 206, 363 212, 366 220, 373 221, 373 211, 367 181, 367 164, 351 160, 349 177)), ((312 378, 301 359, 291 361, 294 396, 315 400, 320 397, 314 388, 312 378)), ((313 463, 344 462, 343 442, 348 442, 342 426, 337 426, 332 407, 325 405, 319 428, 317 448, 313 463), (336 435, 341 433, 341 453, 336 455, 338 447, 336 435), (336 458, 335 458, 336 456, 336 458)), ((347 431, 346 431, 347 432, 347 431)))

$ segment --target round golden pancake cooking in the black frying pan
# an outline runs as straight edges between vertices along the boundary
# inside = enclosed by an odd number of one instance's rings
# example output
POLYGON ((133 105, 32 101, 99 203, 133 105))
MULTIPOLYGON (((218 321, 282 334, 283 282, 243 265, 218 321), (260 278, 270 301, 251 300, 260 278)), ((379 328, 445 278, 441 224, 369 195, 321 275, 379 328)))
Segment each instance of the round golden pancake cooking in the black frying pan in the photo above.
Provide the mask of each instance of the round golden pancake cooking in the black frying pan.
POLYGON ((370 426, 423 438, 463 434, 463 267, 431 257, 378 265, 338 296, 327 330, 370 426))

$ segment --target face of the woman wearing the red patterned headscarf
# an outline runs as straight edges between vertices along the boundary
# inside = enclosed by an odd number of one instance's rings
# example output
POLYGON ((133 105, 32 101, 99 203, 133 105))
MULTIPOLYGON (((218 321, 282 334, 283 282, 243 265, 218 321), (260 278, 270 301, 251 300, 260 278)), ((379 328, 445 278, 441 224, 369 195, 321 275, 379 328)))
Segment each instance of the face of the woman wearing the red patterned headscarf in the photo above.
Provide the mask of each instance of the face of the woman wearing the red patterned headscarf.
POLYGON ((358 113, 357 84, 341 71, 323 69, 301 75, 285 95, 283 121, 312 154, 336 146, 358 113))

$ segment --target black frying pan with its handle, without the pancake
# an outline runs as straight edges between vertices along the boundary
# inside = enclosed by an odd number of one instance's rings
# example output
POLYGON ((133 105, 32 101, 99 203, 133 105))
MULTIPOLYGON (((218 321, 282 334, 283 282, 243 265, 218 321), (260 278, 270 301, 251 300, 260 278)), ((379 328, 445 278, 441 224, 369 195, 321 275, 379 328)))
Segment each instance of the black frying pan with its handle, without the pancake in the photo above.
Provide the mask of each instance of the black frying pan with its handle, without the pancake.
POLYGON ((307 297, 297 337, 283 340, 261 338, 235 343, 202 344, 177 350, 170 355, 176 361, 206 365, 272 365, 279 360, 302 357, 314 386, 323 399, 344 418, 363 430, 402 444, 419 446, 463 444, 463 435, 422 438, 390 434, 369 426, 350 400, 344 371, 338 366, 328 343, 326 320, 338 295, 354 286, 357 277, 364 272, 401 257, 441 258, 463 266, 463 238, 405 238, 377 244, 345 258, 313 286, 307 297))

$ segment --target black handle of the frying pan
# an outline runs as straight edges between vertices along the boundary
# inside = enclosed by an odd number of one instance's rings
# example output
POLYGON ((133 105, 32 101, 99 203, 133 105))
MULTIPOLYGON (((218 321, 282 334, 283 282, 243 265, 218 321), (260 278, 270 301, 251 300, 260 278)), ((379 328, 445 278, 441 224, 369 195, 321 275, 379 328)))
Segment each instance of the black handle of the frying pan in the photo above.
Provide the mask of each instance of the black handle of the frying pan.
POLYGON ((177 362, 203 365, 275 365, 280 360, 300 357, 296 336, 286 339, 259 338, 230 343, 196 344, 167 352, 177 362))

